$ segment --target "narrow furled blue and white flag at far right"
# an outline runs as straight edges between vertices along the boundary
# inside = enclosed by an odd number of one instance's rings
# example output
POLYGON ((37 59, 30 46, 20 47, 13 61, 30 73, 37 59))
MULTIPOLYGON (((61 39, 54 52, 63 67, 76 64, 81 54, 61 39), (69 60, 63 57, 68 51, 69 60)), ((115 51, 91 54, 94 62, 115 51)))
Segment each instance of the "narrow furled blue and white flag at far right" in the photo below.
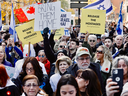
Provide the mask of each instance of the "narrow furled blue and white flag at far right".
POLYGON ((123 35, 122 6, 123 6, 123 1, 121 2, 120 13, 119 13, 119 20, 118 20, 117 27, 116 27, 118 35, 123 35))

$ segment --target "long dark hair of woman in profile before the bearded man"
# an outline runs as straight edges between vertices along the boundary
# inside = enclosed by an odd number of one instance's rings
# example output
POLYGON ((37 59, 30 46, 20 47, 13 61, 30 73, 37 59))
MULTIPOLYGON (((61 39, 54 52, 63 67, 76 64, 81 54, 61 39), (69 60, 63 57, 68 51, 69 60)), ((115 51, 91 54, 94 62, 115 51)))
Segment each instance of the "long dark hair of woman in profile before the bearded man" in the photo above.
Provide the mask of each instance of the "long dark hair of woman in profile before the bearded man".
POLYGON ((96 73, 91 69, 85 69, 82 72, 81 78, 84 80, 89 80, 86 91, 89 96, 101 96, 101 85, 96 73))

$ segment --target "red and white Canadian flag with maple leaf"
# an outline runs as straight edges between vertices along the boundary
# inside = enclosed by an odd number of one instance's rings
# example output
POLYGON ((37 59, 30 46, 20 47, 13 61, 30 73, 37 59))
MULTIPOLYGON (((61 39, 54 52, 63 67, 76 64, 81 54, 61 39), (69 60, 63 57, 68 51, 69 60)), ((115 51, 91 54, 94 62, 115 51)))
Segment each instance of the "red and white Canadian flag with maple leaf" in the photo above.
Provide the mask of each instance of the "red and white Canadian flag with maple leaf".
POLYGON ((14 13, 16 17, 18 18, 19 22, 23 23, 25 21, 35 18, 35 5, 36 4, 27 5, 25 7, 14 10, 14 13))

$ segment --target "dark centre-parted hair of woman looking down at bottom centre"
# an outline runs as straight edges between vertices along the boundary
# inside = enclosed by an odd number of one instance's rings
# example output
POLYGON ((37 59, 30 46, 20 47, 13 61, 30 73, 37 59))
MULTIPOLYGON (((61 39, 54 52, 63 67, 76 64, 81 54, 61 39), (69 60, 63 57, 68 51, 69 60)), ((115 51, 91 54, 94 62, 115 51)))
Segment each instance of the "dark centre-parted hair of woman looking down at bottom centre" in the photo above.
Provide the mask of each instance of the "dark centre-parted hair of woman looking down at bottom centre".
POLYGON ((59 82, 57 84, 57 90, 55 92, 55 96, 61 96, 60 95, 60 89, 61 89, 61 86, 63 86, 63 85, 72 85, 72 86, 74 86, 76 88, 76 91, 77 91, 76 96, 81 96, 77 81, 70 74, 66 74, 66 75, 63 75, 61 77, 61 79, 59 80, 59 82))

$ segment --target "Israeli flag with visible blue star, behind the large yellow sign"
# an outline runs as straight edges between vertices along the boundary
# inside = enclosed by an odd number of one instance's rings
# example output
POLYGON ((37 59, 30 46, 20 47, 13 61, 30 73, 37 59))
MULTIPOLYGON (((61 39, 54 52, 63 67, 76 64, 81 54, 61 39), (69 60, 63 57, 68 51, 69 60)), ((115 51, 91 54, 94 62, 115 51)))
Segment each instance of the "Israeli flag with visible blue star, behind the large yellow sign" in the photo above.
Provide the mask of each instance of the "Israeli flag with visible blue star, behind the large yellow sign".
POLYGON ((113 11, 111 0, 98 0, 92 4, 83 7, 83 9, 106 10, 106 16, 108 16, 113 11))

